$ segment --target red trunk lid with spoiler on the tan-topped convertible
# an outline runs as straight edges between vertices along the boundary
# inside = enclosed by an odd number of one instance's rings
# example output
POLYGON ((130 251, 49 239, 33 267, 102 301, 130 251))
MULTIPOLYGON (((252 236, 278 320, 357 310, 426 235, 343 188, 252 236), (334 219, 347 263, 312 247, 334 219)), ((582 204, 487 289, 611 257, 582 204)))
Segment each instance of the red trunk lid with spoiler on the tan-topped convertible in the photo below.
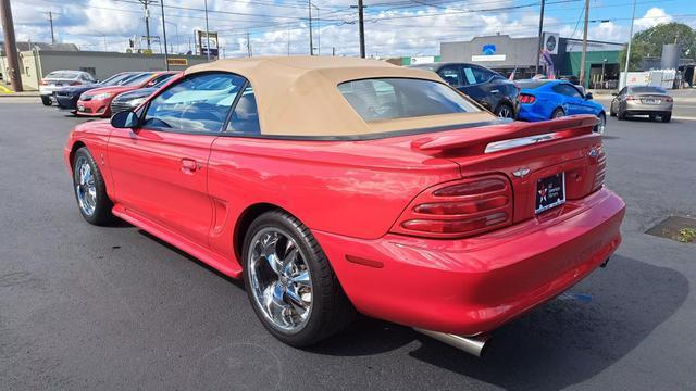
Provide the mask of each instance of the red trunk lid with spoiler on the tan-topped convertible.
POLYGON ((563 173, 564 199, 582 199, 604 182, 601 136, 593 133, 597 117, 577 115, 540 123, 513 122, 452 130, 414 139, 411 148, 448 159, 462 177, 502 174, 512 185, 512 223, 535 213, 540 179, 563 173))

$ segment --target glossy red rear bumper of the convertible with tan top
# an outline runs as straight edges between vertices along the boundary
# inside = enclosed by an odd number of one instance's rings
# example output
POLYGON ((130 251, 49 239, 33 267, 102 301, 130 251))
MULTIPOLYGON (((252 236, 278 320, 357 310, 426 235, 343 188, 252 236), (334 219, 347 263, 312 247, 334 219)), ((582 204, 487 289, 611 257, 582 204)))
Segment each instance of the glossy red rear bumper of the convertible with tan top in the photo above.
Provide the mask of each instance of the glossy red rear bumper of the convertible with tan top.
POLYGON ((602 189, 561 207, 562 213, 544 222, 534 218, 460 240, 314 236, 358 311, 406 326, 474 336, 560 294, 621 242, 625 204, 611 191, 602 189), (349 262, 346 255, 372 263, 349 262))

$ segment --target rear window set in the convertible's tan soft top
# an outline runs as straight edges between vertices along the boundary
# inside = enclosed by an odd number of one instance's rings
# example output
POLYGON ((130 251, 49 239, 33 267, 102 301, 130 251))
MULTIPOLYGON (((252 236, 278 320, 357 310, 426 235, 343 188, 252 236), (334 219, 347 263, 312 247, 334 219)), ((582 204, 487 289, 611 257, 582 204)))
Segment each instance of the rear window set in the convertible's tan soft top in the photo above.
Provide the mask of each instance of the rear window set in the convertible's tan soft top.
POLYGON ((450 87, 423 79, 346 81, 338 90, 365 122, 481 111, 450 87))

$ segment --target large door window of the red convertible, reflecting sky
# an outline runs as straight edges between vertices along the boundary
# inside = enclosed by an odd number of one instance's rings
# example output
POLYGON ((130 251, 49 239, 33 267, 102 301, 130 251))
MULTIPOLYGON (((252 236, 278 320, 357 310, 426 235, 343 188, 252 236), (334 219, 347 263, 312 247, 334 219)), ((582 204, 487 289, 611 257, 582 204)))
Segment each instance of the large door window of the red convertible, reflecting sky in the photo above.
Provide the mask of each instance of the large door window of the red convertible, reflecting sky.
POLYGON ((225 73, 195 74, 157 96, 142 126, 186 133, 221 131, 245 78, 225 73))

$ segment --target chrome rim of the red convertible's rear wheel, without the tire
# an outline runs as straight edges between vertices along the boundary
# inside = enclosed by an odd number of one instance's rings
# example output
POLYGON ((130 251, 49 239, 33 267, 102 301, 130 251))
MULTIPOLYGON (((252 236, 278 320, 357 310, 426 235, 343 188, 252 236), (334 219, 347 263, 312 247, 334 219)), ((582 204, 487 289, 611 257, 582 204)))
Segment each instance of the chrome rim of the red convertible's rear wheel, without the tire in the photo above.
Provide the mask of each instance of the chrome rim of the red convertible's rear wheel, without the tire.
POLYGON ((312 311, 312 278, 297 242, 279 228, 263 228, 247 256, 254 304, 276 328, 299 332, 312 311))

